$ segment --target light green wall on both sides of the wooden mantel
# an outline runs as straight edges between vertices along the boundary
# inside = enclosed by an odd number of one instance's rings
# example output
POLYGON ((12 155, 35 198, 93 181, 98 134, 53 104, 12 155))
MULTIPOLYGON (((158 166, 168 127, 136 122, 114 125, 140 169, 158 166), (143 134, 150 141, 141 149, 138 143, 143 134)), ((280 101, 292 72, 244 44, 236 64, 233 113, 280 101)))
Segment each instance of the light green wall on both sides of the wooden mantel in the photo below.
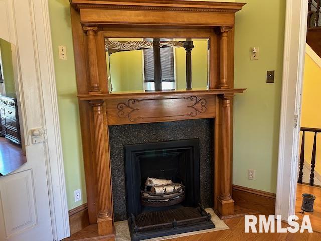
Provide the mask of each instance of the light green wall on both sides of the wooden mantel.
MULTIPOLYGON (((235 2, 233 0, 227 2, 235 2)), ((275 192, 281 101, 285 0, 247 0, 236 14, 235 87, 248 88, 234 102, 233 183, 275 192), (259 60, 250 61, 250 47, 259 47, 259 60), (266 84, 266 71, 276 70, 275 84, 266 84), (256 180, 247 180, 247 169, 256 180)), ((70 11, 68 0, 49 0, 51 31, 68 207, 86 202, 85 178, 70 11), (68 60, 58 59, 58 45, 67 46, 68 60), (74 190, 82 189, 82 201, 74 203, 74 190)))

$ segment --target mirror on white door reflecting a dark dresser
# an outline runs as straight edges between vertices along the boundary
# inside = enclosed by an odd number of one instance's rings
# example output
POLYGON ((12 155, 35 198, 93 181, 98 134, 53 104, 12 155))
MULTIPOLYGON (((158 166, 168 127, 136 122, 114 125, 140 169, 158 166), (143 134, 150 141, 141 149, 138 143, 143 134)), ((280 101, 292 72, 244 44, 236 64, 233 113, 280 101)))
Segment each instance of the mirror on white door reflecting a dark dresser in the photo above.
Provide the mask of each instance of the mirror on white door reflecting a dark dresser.
POLYGON ((0 176, 6 175, 26 160, 22 144, 15 46, 0 39, 0 176))

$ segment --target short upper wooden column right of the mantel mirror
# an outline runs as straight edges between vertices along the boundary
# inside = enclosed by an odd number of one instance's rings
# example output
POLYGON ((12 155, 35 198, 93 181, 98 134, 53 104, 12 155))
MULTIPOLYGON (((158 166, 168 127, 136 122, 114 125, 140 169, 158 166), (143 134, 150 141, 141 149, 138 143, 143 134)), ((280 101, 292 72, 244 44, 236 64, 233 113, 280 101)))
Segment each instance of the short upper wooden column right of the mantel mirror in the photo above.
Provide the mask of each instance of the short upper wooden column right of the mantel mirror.
POLYGON ((228 32, 232 27, 221 27, 221 49, 220 49, 220 84, 221 89, 229 88, 228 85, 228 32))

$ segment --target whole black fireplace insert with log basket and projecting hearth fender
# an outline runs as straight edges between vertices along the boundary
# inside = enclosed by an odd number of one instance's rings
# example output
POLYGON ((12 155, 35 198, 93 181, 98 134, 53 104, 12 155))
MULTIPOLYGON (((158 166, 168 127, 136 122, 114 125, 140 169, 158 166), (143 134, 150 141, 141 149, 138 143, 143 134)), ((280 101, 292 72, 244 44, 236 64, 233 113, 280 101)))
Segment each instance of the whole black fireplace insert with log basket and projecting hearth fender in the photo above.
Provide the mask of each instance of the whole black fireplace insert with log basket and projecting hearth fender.
POLYGON ((124 154, 132 240, 214 228, 200 204, 199 139, 125 145, 124 154))

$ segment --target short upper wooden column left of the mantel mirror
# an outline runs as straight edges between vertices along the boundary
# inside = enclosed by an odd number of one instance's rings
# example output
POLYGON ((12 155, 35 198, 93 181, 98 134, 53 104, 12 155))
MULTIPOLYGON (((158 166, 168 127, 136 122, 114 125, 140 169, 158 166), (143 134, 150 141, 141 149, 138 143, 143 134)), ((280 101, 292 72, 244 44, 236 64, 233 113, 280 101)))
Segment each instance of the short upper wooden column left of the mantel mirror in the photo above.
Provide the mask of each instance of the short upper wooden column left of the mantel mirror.
POLYGON ((90 77, 90 94, 101 93, 99 85, 98 64, 97 64, 97 50, 96 50, 96 31, 97 27, 83 27, 87 35, 88 47, 88 63, 89 63, 89 77, 90 77))

